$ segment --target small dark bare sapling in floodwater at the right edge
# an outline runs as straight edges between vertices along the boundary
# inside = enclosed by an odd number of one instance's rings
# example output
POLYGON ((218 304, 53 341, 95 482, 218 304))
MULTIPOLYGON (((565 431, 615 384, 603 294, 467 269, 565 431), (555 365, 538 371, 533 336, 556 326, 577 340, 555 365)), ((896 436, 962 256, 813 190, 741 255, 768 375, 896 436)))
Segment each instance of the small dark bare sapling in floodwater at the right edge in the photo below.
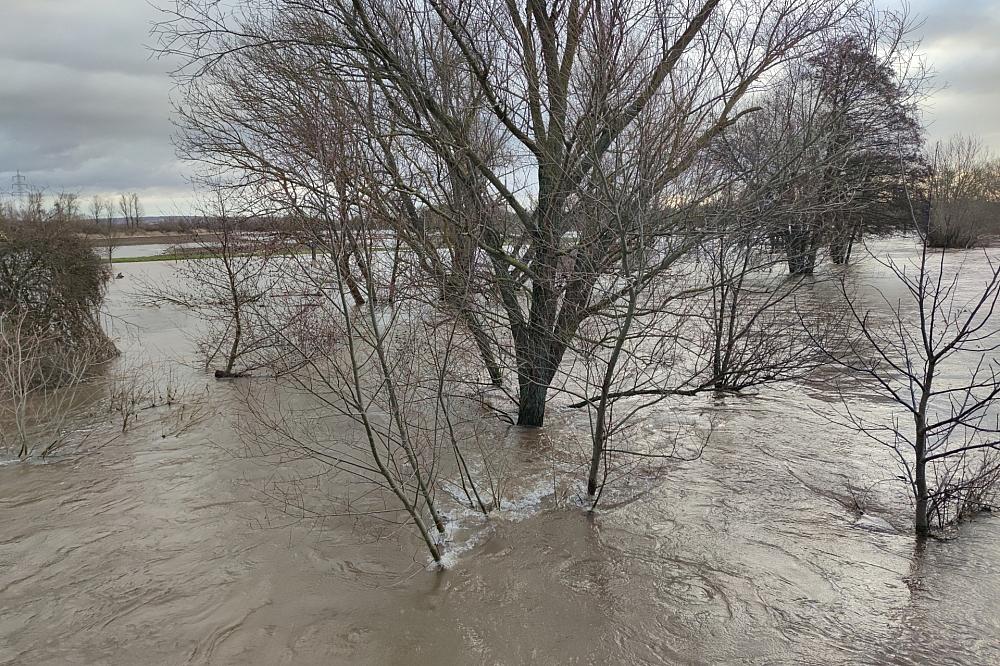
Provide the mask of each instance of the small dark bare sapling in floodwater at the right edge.
POLYGON ((986 274, 971 286, 972 265, 948 256, 932 250, 921 234, 915 261, 876 258, 902 287, 902 297, 876 291, 869 306, 841 283, 850 333, 840 345, 824 345, 832 360, 867 379, 896 407, 877 422, 845 402, 849 424, 899 461, 918 535, 928 533, 932 519, 944 523, 975 509, 977 500, 988 506, 1000 465, 1000 422, 993 410, 1000 396, 994 356, 1000 348, 994 320, 1000 264, 980 255, 986 274))

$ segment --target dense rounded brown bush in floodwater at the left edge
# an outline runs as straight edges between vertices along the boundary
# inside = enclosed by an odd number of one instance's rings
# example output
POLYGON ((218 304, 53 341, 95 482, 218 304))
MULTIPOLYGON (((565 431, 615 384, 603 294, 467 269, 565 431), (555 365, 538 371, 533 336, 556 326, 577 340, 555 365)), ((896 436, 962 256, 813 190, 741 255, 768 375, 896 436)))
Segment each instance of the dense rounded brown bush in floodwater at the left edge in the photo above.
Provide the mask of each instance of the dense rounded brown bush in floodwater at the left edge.
POLYGON ((72 388, 116 353, 99 320, 109 277, 64 224, 0 218, 0 449, 63 443, 72 388))

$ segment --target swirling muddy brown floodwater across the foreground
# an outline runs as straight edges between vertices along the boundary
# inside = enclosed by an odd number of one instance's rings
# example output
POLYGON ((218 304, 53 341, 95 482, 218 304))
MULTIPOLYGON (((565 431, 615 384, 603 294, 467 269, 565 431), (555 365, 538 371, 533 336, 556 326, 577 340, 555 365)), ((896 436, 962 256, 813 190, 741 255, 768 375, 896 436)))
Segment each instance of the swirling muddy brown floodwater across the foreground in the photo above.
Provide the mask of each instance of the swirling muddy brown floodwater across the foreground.
POLYGON ((887 456, 823 418, 818 383, 654 415, 646 436, 710 421, 712 439, 594 516, 552 492, 581 428, 556 407, 503 443, 520 500, 430 572, 409 530, 265 497, 276 472, 238 455, 238 389, 180 364, 193 323, 124 297, 169 266, 120 270, 125 357, 177 362, 204 411, 0 466, 2 664, 1000 663, 1000 519, 919 547, 887 456), (864 519, 849 484, 874 484, 864 519))

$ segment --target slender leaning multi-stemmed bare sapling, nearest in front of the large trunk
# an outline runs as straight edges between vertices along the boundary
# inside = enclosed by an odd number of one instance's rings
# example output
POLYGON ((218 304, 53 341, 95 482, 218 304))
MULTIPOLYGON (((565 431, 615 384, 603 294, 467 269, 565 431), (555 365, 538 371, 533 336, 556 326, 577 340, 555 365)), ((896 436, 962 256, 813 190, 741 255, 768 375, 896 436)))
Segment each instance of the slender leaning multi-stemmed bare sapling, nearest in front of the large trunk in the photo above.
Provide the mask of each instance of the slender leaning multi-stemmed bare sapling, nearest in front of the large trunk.
MULTIPOLYGON (((357 225, 334 229, 338 237, 330 247, 360 250, 373 267, 385 252, 357 225)), ((320 257, 318 265, 301 255, 289 257, 286 273, 301 271, 290 283, 313 288, 272 303, 269 317, 279 338, 277 386, 297 397, 276 401, 274 384, 250 384, 254 419, 243 424, 244 436, 255 455, 286 467, 289 460, 306 458, 360 483, 342 513, 391 523, 401 515, 431 559, 442 564, 449 538, 447 495, 460 492, 470 507, 487 513, 500 505, 503 490, 503 471, 495 460, 484 456, 483 465, 470 465, 469 448, 473 453, 479 448, 472 445, 482 419, 463 416, 469 406, 457 407, 464 401, 448 391, 468 367, 456 321, 436 314, 427 299, 380 305, 375 280, 361 283, 365 298, 355 303, 336 268, 339 258, 320 257), (289 364, 297 371, 287 372, 289 364), (338 425, 340 419, 357 428, 338 425)), ((323 515, 281 483, 269 492, 302 515, 323 515)))

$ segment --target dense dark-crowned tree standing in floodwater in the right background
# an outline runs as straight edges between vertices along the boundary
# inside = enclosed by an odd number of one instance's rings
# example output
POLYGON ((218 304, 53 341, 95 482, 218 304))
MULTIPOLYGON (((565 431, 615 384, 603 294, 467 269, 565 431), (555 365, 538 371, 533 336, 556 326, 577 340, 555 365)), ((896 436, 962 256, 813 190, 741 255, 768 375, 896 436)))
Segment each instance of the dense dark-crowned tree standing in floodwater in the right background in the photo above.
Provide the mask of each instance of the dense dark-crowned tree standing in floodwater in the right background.
POLYGON ((811 150, 781 195, 800 200, 799 210, 774 225, 793 275, 812 274, 824 246, 844 264, 863 233, 909 225, 907 192, 927 171, 917 115, 926 75, 912 28, 906 13, 872 12, 857 29, 825 36, 796 72, 799 110, 779 131, 810 135, 811 150), (812 210, 803 213, 805 202, 812 210))

